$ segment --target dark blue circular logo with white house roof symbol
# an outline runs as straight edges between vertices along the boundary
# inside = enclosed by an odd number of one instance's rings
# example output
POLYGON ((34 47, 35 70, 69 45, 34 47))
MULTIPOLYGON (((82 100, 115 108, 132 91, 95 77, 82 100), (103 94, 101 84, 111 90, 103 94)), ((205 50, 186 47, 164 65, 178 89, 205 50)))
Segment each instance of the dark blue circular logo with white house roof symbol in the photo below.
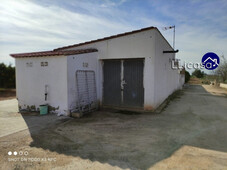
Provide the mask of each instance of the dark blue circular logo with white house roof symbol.
POLYGON ((214 70, 218 67, 220 59, 217 54, 215 53, 206 53, 202 58, 202 65, 207 70, 214 70))

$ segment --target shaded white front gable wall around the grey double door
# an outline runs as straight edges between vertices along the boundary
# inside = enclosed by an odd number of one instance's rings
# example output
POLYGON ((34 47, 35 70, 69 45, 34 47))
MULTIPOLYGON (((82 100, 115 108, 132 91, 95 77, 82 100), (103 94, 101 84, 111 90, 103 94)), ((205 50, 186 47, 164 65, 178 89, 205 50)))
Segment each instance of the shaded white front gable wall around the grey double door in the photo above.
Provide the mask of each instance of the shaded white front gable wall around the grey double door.
MULTIPOLYGON (((72 49, 98 49, 98 76, 100 104, 102 104, 102 60, 103 59, 124 59, 124 58, 145 58, 144 67, 144 107, 146 110, 153 110, 154 103, 154 57, 155 57, 155 32, 148 30, 118 37, 110 40, 100 41, 92 44, 82 45, 72 49)), ((72 77, 72 76, 71 76, 72 77)), ((71 92, 70 92, 71 93, 71 92)), ((72 97, 72 96, 71 96, 72 97)))

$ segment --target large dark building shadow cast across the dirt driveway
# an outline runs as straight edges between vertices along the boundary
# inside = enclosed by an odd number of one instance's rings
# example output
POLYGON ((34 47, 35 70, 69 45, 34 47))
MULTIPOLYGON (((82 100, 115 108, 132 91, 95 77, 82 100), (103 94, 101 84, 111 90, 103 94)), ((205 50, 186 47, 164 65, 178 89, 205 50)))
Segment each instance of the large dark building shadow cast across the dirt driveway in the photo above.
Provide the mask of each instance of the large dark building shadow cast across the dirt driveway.
POLYGON ((183 145, 227 152, 227 106, 222 104, 227 99, 200 85, 188 85, 179 95, 161 114, 98 111, 80 119, 23 118, 31 147, 120 168, 150 168, 183 145))

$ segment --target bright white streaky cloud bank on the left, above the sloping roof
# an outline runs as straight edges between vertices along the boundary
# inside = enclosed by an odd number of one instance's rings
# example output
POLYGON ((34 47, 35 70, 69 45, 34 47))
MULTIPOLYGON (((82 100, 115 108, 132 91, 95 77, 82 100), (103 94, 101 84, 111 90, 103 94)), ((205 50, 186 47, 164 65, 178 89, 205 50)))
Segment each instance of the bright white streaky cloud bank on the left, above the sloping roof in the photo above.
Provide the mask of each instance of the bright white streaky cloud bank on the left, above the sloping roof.
POLYGON ((126 24, 26 0, 2 1, 0 10, 0 62, 6 63, 13 62, 10 53, 51 50, 131 30, 126 24))

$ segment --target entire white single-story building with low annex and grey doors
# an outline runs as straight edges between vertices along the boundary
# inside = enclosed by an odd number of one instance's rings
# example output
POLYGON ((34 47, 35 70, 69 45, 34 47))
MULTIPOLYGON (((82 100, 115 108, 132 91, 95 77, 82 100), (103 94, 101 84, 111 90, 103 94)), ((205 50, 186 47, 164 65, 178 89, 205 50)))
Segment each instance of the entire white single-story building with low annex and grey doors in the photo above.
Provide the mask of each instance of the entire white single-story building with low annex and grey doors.
POLYGON ((99 107, 153 111, 184 84, 174 49, 156 27, 16 59, 19 109, 70 115, 99 107))

